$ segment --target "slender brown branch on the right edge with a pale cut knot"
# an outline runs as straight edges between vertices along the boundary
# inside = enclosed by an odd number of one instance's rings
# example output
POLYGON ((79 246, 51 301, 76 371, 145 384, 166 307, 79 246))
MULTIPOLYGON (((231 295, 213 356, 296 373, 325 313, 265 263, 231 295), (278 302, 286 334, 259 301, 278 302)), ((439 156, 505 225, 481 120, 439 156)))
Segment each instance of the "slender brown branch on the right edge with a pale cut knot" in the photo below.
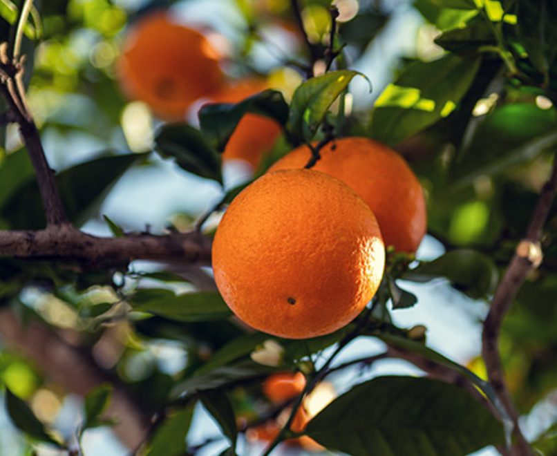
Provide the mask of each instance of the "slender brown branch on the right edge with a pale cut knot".
POLYGON ((489 313, 484 321, 482 332, 482 356, 487 368, 489 383, 500 397, 509 416, 515 424, 518 444, 516 455, 533 455, 530 446, 522 436, 518 426, 518 412, 514 406, 504 378, 504 369, 498 348, 501 325, 511 303, 528 274, 538 267, 542 260, 540 237, 547 220, 551 202, 557 190, 557 160, 551 177, 544 185, 540 198, 531 216, 525 238, 518 244, 516 251, 504 273, 491 301, 489 313))

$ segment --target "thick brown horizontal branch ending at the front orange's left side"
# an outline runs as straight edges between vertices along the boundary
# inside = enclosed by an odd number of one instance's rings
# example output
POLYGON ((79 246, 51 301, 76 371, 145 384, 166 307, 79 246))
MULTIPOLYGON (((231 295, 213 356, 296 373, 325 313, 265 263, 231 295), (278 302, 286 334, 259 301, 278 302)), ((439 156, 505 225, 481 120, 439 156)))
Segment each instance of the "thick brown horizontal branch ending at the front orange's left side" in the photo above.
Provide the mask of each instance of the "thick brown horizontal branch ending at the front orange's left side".
POLYGON ((211 239, 198 232, 100 238, 69 225, 40 231, 0 231, 0 256, 64 261, 84 268, 125 267, 133 260, 209 265, 211 239))

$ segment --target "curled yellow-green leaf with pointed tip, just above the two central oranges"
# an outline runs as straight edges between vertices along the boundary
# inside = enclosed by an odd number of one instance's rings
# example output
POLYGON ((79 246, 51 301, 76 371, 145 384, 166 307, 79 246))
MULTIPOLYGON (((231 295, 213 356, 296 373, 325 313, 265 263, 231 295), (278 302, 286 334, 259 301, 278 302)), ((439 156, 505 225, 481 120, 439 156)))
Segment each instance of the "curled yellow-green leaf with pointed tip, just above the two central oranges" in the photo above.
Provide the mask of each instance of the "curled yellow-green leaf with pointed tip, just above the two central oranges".
POLYGON ((298 86, 290 103, 287 130, 302 140, 311 140, 331 104, 357 75, 363 76, 352 70, 331 71, 298 86))

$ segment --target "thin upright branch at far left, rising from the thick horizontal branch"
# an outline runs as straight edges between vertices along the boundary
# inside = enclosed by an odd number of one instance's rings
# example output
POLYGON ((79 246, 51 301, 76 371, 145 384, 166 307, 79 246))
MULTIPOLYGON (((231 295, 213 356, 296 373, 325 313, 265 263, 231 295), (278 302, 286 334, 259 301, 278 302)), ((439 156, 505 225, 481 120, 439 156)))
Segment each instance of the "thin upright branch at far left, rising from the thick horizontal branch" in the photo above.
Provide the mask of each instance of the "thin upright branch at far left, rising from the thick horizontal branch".
POLYGON ((15 122, 19 124, 21 137, 26 144, 37 176, 47 225, 69 225, 53 170, 48 166, 39 131, 26 105, 22 76, 23 59, 10 59, 8 44, 2 44, 0 46, 0 93, 6 99, 8 110, 12 113, 15 122))

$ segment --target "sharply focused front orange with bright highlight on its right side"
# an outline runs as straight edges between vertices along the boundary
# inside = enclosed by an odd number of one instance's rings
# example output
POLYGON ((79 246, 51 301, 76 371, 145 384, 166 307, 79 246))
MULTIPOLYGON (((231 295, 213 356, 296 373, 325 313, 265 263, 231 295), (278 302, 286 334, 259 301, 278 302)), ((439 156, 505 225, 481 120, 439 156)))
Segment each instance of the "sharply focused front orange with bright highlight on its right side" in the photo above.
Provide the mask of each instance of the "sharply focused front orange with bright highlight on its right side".
POLYGON ((213 243, 216 285, 240 320, 304 339, 350 323, 377 291, 385 250, 368 205, 340 180, 265 174, 228 207, 213 243))

